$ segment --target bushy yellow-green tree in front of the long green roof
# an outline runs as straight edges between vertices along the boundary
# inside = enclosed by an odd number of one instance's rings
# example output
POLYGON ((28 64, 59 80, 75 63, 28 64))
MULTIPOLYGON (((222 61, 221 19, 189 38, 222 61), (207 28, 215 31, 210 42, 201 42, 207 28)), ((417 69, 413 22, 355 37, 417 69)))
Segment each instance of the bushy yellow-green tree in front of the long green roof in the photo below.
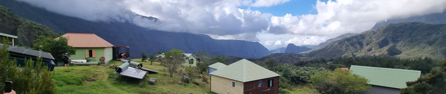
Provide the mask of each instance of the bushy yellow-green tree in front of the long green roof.
POLYGON ((368 79, 351 73, 351 70, 335 69, 333 73, 323 71, 311 76, 321 94, 350 94, 371 88, 368 79))

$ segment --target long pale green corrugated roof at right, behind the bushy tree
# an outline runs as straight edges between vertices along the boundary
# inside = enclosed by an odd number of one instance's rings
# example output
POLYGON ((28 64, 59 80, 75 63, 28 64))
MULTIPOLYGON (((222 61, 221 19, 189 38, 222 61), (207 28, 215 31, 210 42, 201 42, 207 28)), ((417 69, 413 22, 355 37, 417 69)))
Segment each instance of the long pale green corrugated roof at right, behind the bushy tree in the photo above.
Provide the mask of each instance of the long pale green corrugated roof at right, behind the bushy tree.
POLYGON ((354 74, 370 80, 368 84, 393 88, 405 88, 406 82, 415 81, 421 76, 421 71, 406 69, 390 69, 351 65, 354 74))

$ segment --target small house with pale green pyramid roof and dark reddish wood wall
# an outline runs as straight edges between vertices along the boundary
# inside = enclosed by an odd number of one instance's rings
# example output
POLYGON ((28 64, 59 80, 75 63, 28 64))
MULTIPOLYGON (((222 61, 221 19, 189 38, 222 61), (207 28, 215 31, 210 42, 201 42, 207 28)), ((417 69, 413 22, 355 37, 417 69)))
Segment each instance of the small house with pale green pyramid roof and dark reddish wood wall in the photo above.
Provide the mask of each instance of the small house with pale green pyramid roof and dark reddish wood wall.
POLYGON ((246 59, 211 74, 211 91, 216 94, 278 94, 279 74, 246 59))

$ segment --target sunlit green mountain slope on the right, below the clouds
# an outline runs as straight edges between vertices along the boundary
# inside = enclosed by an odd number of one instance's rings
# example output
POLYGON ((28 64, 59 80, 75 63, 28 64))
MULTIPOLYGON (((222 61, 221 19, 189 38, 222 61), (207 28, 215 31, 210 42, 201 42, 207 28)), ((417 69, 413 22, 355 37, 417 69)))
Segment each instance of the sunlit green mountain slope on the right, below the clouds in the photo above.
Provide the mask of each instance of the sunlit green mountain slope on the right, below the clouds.
POLYGON ((401 58, 446 56, 446 25, 403 22, 371 29, 357 36, 335 41, 308 56, 373 56, 401 58))

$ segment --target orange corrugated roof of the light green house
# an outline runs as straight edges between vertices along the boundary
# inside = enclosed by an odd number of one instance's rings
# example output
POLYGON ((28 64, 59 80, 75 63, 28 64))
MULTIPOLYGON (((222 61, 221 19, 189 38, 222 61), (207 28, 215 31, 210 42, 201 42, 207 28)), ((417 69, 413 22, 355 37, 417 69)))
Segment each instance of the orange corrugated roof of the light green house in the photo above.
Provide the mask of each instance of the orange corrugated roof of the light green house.
POLYGON ((62 37, 68 38, 68 45, 73 47, 112 47, 104 39, 93 33, 66 33, 62 37))

